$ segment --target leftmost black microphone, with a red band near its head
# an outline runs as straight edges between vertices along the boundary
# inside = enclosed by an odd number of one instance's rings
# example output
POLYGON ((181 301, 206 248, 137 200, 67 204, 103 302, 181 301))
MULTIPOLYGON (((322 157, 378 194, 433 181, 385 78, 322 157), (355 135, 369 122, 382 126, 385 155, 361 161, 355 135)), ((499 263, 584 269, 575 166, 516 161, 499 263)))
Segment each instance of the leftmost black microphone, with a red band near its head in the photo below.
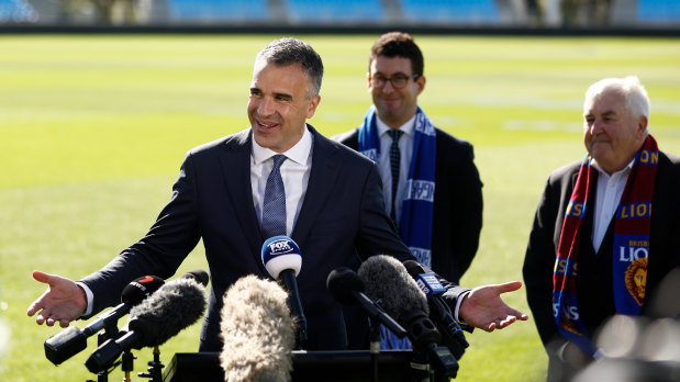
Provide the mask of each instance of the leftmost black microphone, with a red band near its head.
POLYGON ((154 293, 165 282, 155 276, 144 276, 129 283, 121 294, 121 304, 97 317, 82 330, 71 326, 45 340, 45 357, 52 363, 59 364, 87 348, 87 338, 114 324, 130 310, 154 293))

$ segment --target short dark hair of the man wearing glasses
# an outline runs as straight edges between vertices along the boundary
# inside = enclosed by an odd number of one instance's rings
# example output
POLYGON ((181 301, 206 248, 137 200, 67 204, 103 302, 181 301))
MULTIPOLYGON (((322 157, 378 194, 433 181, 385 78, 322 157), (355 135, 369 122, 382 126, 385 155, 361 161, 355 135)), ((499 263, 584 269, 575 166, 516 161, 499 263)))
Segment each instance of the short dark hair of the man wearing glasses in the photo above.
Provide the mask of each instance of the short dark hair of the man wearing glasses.
POLYGON ((378 57, 403 57, 411 60, 411 70, 414 75, 423 76, 424 61, 421 48, 415 45, 413 36, 404 32, 388 32, 381 35, 370 48, 368 56, 368 71, 370 64, 378 57))

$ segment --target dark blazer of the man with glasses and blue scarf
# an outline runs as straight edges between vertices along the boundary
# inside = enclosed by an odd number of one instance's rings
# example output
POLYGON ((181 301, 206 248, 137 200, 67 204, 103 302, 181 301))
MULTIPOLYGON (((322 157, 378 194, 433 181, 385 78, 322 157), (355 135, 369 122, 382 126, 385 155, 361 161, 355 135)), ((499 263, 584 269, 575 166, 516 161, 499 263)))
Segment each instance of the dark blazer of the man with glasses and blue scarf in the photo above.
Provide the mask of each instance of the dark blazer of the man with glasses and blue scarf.
MULTIPOLYGON (((482 225, 482 182, 472 145, 436 128, 432 269, 459 282, 470 267, 482 225)), ((358 148, 358 128, 333 137, 358 148)))

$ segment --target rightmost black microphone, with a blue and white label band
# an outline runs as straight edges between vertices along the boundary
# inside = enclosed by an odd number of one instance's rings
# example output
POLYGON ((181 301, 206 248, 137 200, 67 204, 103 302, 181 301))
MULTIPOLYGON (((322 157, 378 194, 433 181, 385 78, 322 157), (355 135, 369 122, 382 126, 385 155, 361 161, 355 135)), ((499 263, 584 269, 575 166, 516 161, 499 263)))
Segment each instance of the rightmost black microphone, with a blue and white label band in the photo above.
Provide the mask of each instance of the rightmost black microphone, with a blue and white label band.
POLYGON ((442 299, 442 294, 446 292, 446 289, 437 279, 437 276, 427 271, 420 262, 406 260, 403 265, 409 274, 415 280, 415 284, 425 293, 430 303, 430 312, 435 318, 437 328, 444 334, 444 342, 456 359, 460 359, 469 344, 462 334, 460 325, 454 319, 450 308, 442 299))

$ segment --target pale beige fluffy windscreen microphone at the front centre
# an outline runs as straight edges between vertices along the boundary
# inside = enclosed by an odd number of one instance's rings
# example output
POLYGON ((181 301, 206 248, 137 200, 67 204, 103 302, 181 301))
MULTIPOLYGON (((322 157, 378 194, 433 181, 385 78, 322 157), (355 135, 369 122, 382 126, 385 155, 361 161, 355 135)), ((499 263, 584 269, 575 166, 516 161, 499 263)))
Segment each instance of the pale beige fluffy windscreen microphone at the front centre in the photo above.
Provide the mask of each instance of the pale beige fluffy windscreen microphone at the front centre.
POLYGON ((278 283, 255 276, 238 279, 224 294, 220 364, 228 382, 287 382, 296 328, 278 283))

